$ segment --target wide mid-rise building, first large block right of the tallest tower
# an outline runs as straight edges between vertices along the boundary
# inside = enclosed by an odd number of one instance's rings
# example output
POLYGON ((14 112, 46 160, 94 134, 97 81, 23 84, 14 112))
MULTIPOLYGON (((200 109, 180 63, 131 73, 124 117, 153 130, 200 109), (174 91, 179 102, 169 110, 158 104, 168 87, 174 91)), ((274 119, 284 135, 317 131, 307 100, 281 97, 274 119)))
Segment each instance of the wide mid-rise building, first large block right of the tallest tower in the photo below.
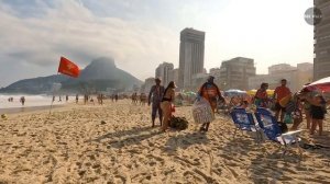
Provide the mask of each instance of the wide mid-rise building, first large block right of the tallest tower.
POLYGON ((222 61, 220 67, 220 87, 223 90, 249 89, 249 78, 255 76, 254 60, 237 57, 222 61))

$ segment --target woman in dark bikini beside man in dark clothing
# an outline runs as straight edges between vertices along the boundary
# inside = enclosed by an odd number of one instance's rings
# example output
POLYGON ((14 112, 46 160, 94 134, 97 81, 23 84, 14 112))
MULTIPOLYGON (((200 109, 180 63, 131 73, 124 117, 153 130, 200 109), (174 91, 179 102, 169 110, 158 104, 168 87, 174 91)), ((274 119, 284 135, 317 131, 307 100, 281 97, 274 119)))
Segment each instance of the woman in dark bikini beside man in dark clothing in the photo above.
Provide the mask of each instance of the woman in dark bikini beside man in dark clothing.
POLYGON ((162 126, 162 131, 165 133, 168 128, 168 122, 170 119, 170 115, 172 115, 172 108, 173 108, 173 102, 175 100, 175 83, 173 81, 170 81, 167 85, 167 88, 165 89, 163 99, 162 99, 162 103, 161 103, 161 107, 163 111, 163 126, 162 126))

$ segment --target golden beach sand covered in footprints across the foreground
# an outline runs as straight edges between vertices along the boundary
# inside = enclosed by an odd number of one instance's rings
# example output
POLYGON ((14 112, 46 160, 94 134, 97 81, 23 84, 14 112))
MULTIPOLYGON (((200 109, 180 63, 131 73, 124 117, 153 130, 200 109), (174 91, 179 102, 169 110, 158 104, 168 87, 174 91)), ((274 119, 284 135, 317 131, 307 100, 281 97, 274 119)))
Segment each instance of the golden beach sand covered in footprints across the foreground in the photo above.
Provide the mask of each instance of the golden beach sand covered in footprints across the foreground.
MULTIPOLYGON (((151 128, 150 107, 129 101, 10 114, 0 119, 0 183, 330 183, 330 149, 283 159, 274 142, 233 139, 228 118, 201 134, 189 106, 176 112, 189 128, 165 134, 151 128)), ((330 146, 324 129, 302 140, 330 146)))

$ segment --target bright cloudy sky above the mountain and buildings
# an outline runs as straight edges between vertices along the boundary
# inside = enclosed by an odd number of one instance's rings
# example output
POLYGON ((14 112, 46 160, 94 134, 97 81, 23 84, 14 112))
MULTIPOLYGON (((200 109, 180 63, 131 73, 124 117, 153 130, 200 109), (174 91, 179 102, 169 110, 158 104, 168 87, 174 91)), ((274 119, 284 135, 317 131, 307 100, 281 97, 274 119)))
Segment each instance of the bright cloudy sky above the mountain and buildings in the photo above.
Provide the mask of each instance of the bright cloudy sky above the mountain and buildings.
POLYGON ((56 74, 61 56, 80 68, 111 57, 140 80, 163 61, 178 67, 179 33, 206 32, 205 68, 253 58, 312 62, 311 0, 0 0, 0 87, 56 74))

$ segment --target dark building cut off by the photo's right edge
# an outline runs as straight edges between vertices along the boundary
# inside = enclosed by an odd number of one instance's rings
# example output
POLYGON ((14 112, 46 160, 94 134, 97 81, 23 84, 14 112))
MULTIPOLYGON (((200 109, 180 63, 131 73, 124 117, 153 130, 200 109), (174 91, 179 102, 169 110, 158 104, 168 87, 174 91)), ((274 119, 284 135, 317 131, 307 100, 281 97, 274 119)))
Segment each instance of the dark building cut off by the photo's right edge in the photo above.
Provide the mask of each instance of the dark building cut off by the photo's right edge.
POLYGON ((330 76, 330 1, 314 0, 322 19, 314 27, 314 80, 330 76))

